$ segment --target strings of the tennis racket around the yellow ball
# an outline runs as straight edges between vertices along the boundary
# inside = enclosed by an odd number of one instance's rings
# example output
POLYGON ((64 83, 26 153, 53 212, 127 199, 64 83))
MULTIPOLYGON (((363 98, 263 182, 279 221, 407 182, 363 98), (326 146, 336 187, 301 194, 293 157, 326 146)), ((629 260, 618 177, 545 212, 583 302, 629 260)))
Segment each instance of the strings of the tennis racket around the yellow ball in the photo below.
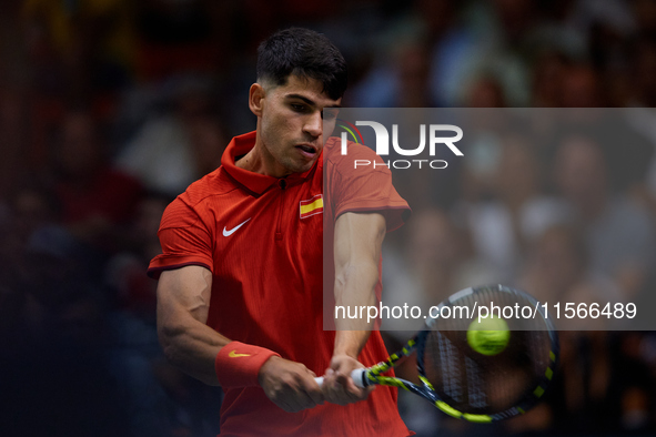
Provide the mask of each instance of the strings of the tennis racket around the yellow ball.
MULTIPOLYGON (((453 305, 531 304, 517 302, 509 293, 483 291, 453 305)), ((485 356, 467 344, 472 321, 442 318, 432 325, 423 350, 423 368, 438 397, 450 406, 470 414, 495 414, 535 397, 533 392, 544 379, 551 364, 552 339, 542 318, 507 319, 512 335, 506 348, 485 356)))

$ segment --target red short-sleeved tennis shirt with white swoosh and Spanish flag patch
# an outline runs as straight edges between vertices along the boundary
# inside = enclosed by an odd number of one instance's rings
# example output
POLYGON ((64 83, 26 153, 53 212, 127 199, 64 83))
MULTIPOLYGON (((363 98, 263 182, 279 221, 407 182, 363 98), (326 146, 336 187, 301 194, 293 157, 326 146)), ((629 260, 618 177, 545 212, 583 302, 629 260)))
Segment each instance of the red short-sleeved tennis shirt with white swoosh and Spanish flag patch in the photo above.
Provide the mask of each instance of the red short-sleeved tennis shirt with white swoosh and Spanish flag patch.
MULTIPOLYGON (((342 156, 339 139, 331 138, 311 170, 276 179, 235 166, 254 144, 255 132, 234 138, 221 166, 169 205, 159 231, 163 253, 152 260, 149 274, 186 265, 209 268, 209 326, 323 375, 335 337, 323 328, 324 221, 330 224, 326 253, 332 253, 332 225, 340 214, 379 211, 393 230, 410 210, 387 167, 353 170, 354 159, 377 157, 363 145, 351 143, 342 156)), ((332 274, 326 271, 326 277, 332 274)), ((380 291, 379 281, 379 298, 380 291)), ((360 362, 371 366, 386 356, 380 333, 372 332, 360 362)), ((260 387, 229 388, 221 407, 221 436, 410 434, 396 392, 383 386, 364 402, 326 403, 300 413, 282 410, 260 387)))

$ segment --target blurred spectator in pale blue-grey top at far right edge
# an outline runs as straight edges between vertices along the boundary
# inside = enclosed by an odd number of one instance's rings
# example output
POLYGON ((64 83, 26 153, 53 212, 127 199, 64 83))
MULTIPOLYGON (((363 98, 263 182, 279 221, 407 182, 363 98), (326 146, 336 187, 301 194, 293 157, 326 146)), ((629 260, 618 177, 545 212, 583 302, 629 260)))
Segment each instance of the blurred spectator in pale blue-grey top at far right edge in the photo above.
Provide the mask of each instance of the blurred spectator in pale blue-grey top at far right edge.
POLYGON ((589 265, 610 275, 624 298, 640 291, 654 263, 654 231, 646 213, 608 186, 608 163, 591 138, 565 136, 556 152, 555 181, 585 232, 589 265))

